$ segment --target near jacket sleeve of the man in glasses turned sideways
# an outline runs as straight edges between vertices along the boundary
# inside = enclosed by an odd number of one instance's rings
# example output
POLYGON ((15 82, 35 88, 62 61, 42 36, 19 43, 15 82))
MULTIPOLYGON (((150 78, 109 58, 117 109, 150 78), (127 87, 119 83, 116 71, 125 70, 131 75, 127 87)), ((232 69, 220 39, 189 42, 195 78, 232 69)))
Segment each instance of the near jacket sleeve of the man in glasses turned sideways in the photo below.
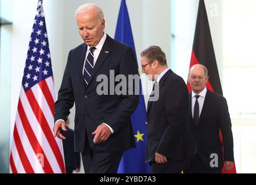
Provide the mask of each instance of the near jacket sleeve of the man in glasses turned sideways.
POLYGON ((179 139, 185 132, 189 97, 185 82, 178 77, 168 84, 165 93, 167 126, 157 147, 157 153, 171 157, 176 145, 179 145, 179 139))

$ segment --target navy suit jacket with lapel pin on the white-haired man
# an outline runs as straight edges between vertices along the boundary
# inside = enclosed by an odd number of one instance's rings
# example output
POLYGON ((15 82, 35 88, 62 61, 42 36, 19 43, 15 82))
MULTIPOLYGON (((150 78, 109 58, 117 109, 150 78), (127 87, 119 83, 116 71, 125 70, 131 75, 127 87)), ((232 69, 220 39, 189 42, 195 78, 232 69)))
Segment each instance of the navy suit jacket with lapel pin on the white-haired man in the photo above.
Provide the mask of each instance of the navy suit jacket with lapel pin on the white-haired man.
MULTIPOLYGON (((97 87, 102 79, 98 80, 100 82, 96 80, 98 75, 103 74, 107 77, 107 84, 110 84, 110 78, 119 74, 125 75, 127 79, 128 75, 138 74, 135 53, 131 47, 107 35, 93 68, 91 81, 85 87, 82 68, 86 49, 83 43, 68 54, 62 85, 55 102, 55 121, 66 121, 75 102, 75 151, 83 152, 87 142, 94 151, 124 151, 135 147, 130 116, 139 103, 139 95, 98 95, 97 87), (110 70, 114 70, 113 76, 110 70), (92 132, 102 123, 110 125, 114 134, 105 142, 94 144, 92 132)), ((113 86, 117 84, 113 79, 111 83, 113 86)), ((114 92, 113 88, 108 88, 110 90, 114 92)), ((127 87, 127 94, 129 91, 134 90, 127 87)))

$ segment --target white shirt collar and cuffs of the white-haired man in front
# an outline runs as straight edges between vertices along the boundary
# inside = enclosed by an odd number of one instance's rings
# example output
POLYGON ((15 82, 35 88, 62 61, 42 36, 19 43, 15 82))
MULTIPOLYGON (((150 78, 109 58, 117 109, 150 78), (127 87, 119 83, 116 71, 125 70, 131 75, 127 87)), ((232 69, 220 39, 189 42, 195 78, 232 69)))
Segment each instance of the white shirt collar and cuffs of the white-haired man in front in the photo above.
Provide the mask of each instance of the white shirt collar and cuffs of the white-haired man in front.
MULTIPOLYGON (((95 46, 96 49, 93 51, 93 66, 95 66, 95 64, 96 64, 96 61, 97 61, 97 59, 99 57, 99 54, 100 54, 100 51, 102 50, 104 42, 106 41, 106 38, 107 38, 107 34, 106 34, 106 32, 104 32, 104 35, 103 35, 102 39, 100 39, 100 42, 98 43, 98 45, 95 46)), ((89 53, 89 49, 90 49, 90 47, 87 47, 87 51, 86 51, 86 55, 85 55, 85 60, 84 60, 84 66, 85 66, 86 57, 88 56, 88 53, 89 53)), ((84 75, 84 66, 82 68, 82 75, 84 75)), ((62 119, 59 119, 57 121, 60 121, 60 120, 62 120, 62 119)), ((62 120, 62 121, 64 121, 64 120, 62 120)), ((114 133, 114 130, 108 124, 106 124, 106 123, 103 123, 103 124, 105 124, 105 125, 107 125, 107 127, 109 127, 109 129, 112 132, 112 134, 114 133)))

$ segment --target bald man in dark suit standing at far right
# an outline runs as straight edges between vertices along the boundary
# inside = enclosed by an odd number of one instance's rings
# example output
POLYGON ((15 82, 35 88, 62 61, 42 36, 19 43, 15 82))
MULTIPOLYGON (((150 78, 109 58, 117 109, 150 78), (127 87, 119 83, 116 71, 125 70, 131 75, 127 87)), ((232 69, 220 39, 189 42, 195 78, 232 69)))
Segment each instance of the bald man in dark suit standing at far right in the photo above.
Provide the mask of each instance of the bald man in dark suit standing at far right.
POLYGON ((193 65, 188 82, 192 88, 189 101, 189 136, 192 146, 188 173, 221 173, 234 165, 233 135, 226 99, 205 87, 208 75, 204 65, 193 65), (219 136, 222 132, 222 143, 219 136), (224 157, 224 159, 223 159, 224 157))

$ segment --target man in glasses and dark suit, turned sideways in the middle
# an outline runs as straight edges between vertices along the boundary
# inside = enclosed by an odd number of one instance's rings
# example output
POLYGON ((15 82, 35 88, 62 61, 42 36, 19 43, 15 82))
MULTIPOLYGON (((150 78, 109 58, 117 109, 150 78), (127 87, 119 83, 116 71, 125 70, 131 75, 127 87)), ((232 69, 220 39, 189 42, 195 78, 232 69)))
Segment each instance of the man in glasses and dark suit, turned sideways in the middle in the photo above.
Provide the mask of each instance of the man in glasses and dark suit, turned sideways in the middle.
POLYGON ((184 80, 168 69, 160 47, 150 46, 140 56, 142 72, 155 81, 147 104, 146 162, 153 173, 181 173, 186 161, 188 89, 184 80))

